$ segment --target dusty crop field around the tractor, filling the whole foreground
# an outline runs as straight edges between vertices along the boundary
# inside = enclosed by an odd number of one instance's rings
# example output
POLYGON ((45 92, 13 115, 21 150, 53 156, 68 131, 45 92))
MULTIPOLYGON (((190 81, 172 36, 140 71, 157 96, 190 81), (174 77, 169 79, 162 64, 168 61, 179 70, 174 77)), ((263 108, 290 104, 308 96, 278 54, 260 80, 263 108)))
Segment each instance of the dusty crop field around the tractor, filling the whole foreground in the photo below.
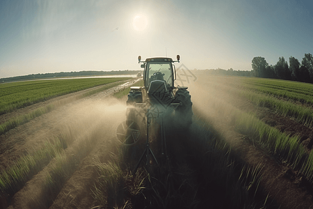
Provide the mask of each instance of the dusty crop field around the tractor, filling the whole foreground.
POLYGON ((141 150, 129 155, 116 137, 128 89, 68 100, 1 134, 0 208, 313 207, 313 86, 196 76, 193 125, 167 124, 170 160, 150 173, 131 176, 141 150))

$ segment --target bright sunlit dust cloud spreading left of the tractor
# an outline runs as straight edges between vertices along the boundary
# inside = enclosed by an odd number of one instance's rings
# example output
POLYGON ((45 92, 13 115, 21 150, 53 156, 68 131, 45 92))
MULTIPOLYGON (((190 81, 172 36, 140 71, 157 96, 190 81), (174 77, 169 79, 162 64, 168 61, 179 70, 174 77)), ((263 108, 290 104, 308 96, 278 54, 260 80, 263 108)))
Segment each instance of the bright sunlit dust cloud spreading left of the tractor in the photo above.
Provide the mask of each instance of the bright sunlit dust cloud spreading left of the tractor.
MULTIPOLYGON (((125 103, 115 98, 92 96, 66 104, 29 123, 29 129, 23 133, 26 137, 26 143, 22 147, 29 150, 30 155, 32 152, 35 153, 35 150, 45 148, 47 143, 54 144, 57 139, 65 140, 65 147, 42 171, 35 174, 21 190, 15 193, 12 200, 13 205, 9 208, 42 208, 41 202, 47 199, 49 196, 47 194, 50 191, 49 187, 45 187, 47 185, 47 173, 58 166, 62 166, 63 161, 61 162, 60 159, 75 159, 77 161, 74 162, 79 163, 90 155, 90 152, 99 144, 109 146, 112 145, 112 140, 118 142, 116 129, 120 123, 126 120, 125 103), (32 194, 31 199, 29 194, 32 194)), ((19 153, 15 154, 18 155, 19 153)), ((70 165, 71 161, 64 163, 62 171, 74 172, 66 166, 67 164, 70 165)), ((12 162, 8 162, 8 165, 10 164, 12 162)))

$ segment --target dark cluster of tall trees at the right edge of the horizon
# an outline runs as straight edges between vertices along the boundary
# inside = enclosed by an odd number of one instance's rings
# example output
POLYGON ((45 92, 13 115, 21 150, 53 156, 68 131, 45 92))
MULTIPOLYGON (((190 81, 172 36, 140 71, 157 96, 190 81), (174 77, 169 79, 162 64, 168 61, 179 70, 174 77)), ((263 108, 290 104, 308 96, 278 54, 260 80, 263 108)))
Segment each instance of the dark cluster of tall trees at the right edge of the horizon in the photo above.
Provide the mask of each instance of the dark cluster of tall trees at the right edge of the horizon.
POLYGON ((268 65, 264 57, 256 56, 252 59, 252 69, 255 77, 313 83, 313 56, 310 53, 305 54, 301 63, 290 56, 289 65, 284 56, 278 59, 276 65, 268 65))

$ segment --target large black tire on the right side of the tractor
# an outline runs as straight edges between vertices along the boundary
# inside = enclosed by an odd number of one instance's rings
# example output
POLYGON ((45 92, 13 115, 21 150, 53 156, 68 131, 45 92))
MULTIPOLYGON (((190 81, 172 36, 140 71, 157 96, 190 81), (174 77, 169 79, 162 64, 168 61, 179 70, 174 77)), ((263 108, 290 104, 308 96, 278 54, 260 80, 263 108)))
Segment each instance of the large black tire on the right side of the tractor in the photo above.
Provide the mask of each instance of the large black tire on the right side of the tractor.
POLYGON ((191 102, 191 95, 186 89, 179 89, 175 95, 175 103, 181 103, 175 109, 175 121, 179 127, 188 128, 193 123, 193 109, 191 102))

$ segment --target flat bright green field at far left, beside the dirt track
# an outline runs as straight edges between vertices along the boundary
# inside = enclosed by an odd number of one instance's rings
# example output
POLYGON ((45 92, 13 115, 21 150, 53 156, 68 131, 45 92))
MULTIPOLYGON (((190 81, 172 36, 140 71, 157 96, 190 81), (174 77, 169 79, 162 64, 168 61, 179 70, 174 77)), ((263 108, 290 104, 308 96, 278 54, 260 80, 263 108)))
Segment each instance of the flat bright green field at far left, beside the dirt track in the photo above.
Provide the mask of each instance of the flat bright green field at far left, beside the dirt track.
MULTIPOLYGON (((129 78, 66 79, 1 84, 0 87, 4 91, 1 91, 0 115, 14 111, 15 109, 26 107, 36 102, 49 100, 59 95, 65 95, 67 93, 106 84, 100 88, 83 93, 75 99, 83 98, 93 93, 104 91, 107 88, 118 86, 127 79, 129 78)), ((68 102, 72 102, 72 100, 65 100, 62 104, 68 102)), ((61 104, 58 102, 51 102, 45 106, 38 107, 27 114, 10 118, 8 121, 0 124, 0 134, 8 132, 8 130, 17 127, 18 125, 27 123, 42 114, 46 114, 59 105, 61 104)))

